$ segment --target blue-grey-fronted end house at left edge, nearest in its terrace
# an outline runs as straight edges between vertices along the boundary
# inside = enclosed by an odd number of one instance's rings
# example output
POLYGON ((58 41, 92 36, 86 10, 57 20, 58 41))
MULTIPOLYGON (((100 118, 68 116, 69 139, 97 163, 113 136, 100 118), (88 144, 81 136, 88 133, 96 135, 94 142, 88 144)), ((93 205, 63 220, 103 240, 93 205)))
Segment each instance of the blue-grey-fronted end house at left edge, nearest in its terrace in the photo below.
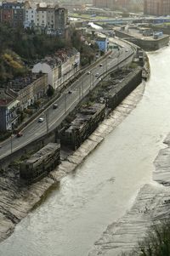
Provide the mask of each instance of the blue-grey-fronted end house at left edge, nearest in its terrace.
POLYGON ((19 100, 14 100, 5 90, 0 90, 0 131, 12 130, 19 123, 20 115, 17 113, 19 100))

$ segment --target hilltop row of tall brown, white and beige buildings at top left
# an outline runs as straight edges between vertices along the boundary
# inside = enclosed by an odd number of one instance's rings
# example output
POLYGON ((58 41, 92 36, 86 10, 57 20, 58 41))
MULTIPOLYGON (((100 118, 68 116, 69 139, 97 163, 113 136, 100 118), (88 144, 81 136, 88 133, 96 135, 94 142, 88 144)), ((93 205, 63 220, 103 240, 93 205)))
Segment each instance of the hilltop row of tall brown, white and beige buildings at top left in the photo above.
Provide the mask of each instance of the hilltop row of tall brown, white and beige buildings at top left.
POLYGON ((0 22, 11 26, 34 27, 48 34, 65 35, 68 24, 68 11, 58 4, 37 3, 32 8, 30 3, 3 2, 0 7, 0 22))

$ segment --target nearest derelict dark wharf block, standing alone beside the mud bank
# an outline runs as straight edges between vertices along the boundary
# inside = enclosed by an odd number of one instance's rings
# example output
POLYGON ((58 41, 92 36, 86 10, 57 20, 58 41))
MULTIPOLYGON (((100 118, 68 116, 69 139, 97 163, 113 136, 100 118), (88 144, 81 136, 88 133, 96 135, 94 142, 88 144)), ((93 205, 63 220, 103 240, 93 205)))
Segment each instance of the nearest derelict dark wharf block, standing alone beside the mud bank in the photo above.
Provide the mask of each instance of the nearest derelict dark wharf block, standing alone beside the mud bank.
POLYGON ((48 143, 29 159, 20 163, 20 178, 35 182, 52 171, 60 162, 60 145, 48 143))

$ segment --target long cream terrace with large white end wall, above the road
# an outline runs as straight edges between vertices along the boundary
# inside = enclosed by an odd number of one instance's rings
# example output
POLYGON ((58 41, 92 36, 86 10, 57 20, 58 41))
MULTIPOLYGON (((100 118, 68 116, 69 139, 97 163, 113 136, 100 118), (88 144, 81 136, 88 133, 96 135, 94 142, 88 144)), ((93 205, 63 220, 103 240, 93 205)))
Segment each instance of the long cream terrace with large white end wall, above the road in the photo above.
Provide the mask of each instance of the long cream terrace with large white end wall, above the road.
POLYGON ((75 48, 59 50, 48 56, 32 68, 32 73, 48 74, 48 84, 54 89, 59 88, 80 69, 80 53, 75 48))

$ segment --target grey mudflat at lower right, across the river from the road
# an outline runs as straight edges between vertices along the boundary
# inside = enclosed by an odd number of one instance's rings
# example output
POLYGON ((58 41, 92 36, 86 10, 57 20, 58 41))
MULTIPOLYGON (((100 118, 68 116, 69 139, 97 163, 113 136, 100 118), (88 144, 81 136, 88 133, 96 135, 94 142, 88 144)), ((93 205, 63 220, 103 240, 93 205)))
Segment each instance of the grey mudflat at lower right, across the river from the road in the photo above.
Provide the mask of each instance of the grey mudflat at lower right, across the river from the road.
POLYGON ((164 140, 165 148, 155 160, 153 182, 144 185, 135 199, 133 207, 107 227, 94 250, 88 256, 122 255, 136 250, 153 223, 169 218, 170 213, 170 134, 164 140))

